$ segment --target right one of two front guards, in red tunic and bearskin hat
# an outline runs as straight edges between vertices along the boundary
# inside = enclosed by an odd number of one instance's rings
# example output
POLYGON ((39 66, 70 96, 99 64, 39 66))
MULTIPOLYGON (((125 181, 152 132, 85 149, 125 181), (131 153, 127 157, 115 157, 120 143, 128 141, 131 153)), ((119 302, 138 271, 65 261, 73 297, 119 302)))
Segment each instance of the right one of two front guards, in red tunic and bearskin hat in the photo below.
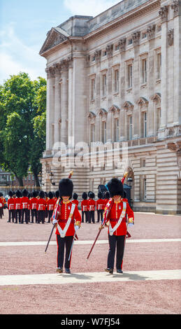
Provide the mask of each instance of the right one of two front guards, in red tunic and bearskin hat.
POLYGON ((110 197, 106 205, 106 209, 103 214, 103 222, 101 223, 100 230, 103 225, 109 223, 108 226, 108 240, 109 240, 109 252, 108 252, 108 264, 106 272, 113 274, 114 262, 115 262, 115 249, 117 248, 116 255, 116 269, 117 273, 122 273, 122 260, 124 255, 124 244, 126 239, 126 215, 128 221, 133 225, 134 215, 133 211, 129 207, 129 203, 123 200, 124 190, 122 182, 118 179, 111 179, 108 184, 108 190, 110 197), (107 214, 108 213, 108 214, 107 214))

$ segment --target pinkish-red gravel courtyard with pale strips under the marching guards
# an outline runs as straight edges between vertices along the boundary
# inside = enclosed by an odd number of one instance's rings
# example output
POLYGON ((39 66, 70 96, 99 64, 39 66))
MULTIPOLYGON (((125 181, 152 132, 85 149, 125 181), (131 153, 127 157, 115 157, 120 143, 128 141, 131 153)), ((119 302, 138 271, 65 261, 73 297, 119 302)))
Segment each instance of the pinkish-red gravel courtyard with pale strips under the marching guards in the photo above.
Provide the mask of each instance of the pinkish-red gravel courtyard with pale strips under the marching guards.
POLYGON ((104 272, 107 229, 87 255, 99 224, 82 223, 71 274, 57 274, 52 224, 0 220, 0 314, 180 314, 181 216, 135 213, 124 274, 104 272), (114 306, 113 306, 114 305, 114 306))

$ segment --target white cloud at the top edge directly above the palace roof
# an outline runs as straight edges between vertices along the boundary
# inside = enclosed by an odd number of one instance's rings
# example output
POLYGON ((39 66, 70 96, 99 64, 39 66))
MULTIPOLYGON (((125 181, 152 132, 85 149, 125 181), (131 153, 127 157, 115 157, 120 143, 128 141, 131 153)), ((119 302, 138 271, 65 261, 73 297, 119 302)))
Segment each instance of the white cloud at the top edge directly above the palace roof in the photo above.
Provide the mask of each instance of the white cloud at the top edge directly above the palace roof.
POLYGON ((119 2, 119 0, 64 0, 64 6, 73 15, 96 16, 119 2))

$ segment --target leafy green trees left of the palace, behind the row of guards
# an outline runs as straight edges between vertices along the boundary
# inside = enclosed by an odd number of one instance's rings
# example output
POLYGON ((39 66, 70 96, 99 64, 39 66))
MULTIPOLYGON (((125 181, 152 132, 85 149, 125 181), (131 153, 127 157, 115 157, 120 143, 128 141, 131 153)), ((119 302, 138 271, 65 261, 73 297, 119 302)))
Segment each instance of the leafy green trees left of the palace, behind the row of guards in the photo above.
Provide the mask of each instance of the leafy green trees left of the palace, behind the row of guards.
POLYGON ((45 107, 44 78, 32 81, 27 73, 20 72, 0 85, 0 166, 15 174, 20 185, 29 167, 39 185, 45 107))

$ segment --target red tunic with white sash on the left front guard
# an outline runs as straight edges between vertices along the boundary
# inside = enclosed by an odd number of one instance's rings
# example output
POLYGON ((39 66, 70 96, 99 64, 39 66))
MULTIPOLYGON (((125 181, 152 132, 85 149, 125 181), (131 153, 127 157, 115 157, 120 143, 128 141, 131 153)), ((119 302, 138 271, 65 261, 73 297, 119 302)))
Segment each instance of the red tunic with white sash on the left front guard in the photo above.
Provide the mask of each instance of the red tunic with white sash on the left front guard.
MULTIPOLYGON (((59 205, 58 207, 58 216, 57 216, 57 221, 58 221, 58 225, 61 227, 61 230, 64 230, 64 227, 66 225, 66 222, 68 221, 70 212, 71 212, 71 207, 72 207, 72 202, 62 202, 61 205, 59 205)), ((71 223, 68 227, 68 230, 66 231, 66 237, 71 237, 75 234, 75 228, 74 228, 74 224, 75 222, 81 222, 81 216, 80 216, 80 212, 78 211, 78 206, 75 204, 75 209, 73 212, 73 216, 71 219, 71 223)), ((59 230, 57 228, 56 235, 59 235, 59 230)))

